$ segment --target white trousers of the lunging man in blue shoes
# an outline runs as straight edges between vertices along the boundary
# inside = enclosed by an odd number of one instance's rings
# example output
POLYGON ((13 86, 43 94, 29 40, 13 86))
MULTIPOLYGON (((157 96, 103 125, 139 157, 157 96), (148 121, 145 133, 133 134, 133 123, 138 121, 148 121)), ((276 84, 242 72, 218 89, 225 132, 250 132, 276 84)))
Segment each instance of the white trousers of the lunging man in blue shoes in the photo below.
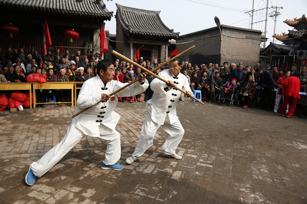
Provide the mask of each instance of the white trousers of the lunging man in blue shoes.
MULTIPOLYGON (((50 149, 40 160, 31 164, 34 175, 40 177, 49 171, 85 136, 75 125, 76 123, 73 119, 62 141, 50 149)), ((100 124, 99 127, 99 138, 105 140, 107 143, 103 163, 105 165, 113 165, 120 159, 120 134, 103 124, 100 124)))

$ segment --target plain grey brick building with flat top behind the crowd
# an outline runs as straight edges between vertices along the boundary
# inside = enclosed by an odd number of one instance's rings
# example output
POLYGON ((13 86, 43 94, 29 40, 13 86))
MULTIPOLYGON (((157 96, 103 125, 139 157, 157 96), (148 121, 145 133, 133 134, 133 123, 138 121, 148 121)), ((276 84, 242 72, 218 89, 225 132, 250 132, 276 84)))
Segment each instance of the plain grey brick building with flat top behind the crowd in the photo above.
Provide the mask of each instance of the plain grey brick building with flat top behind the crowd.
POLYGON ((228 63, 255 65, 259 62, 260 44, 267 38, 261 35, 261 31, 221 25, 218 27, 189 33, 178 37, 179 53, 188 47, 196 47, 183 55, 185 61, 194 64, 228 63), (221 40, 222 32, 222 40, 221 40))

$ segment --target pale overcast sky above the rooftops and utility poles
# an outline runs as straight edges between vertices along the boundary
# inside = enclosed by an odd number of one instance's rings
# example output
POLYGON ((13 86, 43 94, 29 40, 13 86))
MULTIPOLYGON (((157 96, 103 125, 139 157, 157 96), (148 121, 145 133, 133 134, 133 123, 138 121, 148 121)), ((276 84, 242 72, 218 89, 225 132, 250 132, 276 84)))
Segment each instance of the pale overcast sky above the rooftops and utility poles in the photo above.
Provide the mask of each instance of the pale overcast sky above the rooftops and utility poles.
MULTIPOLYGON (((104 0, 106 8, 113 11, 111 21, 105 22, 105 30, 112 34, 116 34, 116 3, 134 7, 138 9, 161 11, 160 17, 164 24, 173 29, 174 32, 180 32, 179 35, 184 35, 208 28, 215 27, 214 16, 217 16, 221 24, 231 25, 240 28, 251 28, 251 17, 246 11, 252 10, 252 0, 104 0), (214 3, 213 3, 214 2, 214 3)), ((254 12, 254 22, 266 19, 267 1, 254 0, 254 10, 262 9, 254 12)), ((288 33, 288 30, 293 28, 282 22, 286 19, 300 18, 303 14, 307 16, 307 1, 306 0, 269 0, 270 7, 282 7, 279 9, 280 15, 276 21, 276 34, 288 33)), ((268 16, 273 11, 269 9, 268 16)), ((253 29, 265 32, 265 21, 254 23, 253 29)), ((266 45, 273 41, 274 19, 268 17, 266 45)), ((276 43, 281 44, 280 41, 276 43)))

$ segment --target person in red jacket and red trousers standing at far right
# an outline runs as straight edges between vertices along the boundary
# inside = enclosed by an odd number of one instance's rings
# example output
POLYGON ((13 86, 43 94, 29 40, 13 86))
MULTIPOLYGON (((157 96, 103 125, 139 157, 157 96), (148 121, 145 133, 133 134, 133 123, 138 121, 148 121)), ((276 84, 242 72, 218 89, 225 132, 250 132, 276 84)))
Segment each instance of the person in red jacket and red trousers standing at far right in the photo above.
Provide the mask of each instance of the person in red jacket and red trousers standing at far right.
POLYGON ((284 89, 284 102, 282 104, 280 114, 282 116, 286 115, 287 105, 289 104, 289 112, 287 113, 287 118, 290 118, 296 107, 297 100, 300 99, 299 89, 300 89, 300 81, 298 79, 298 72, 293 73, 293 77, 288 78, 283 83, 284 89))

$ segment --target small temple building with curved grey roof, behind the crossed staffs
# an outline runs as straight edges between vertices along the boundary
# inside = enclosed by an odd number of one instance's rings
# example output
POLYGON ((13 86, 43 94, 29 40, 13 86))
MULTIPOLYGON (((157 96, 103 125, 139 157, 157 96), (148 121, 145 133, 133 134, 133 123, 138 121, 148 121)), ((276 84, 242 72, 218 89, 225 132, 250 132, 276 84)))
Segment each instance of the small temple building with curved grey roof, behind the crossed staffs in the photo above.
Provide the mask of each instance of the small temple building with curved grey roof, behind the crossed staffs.
POLYGON ((135 59, 140 48, 143 60, 165 62, 168 59, 169 40, 177 40, 179 33, 166 27, 160 11, 149 11, 116 4, 116 50, 135 59))

